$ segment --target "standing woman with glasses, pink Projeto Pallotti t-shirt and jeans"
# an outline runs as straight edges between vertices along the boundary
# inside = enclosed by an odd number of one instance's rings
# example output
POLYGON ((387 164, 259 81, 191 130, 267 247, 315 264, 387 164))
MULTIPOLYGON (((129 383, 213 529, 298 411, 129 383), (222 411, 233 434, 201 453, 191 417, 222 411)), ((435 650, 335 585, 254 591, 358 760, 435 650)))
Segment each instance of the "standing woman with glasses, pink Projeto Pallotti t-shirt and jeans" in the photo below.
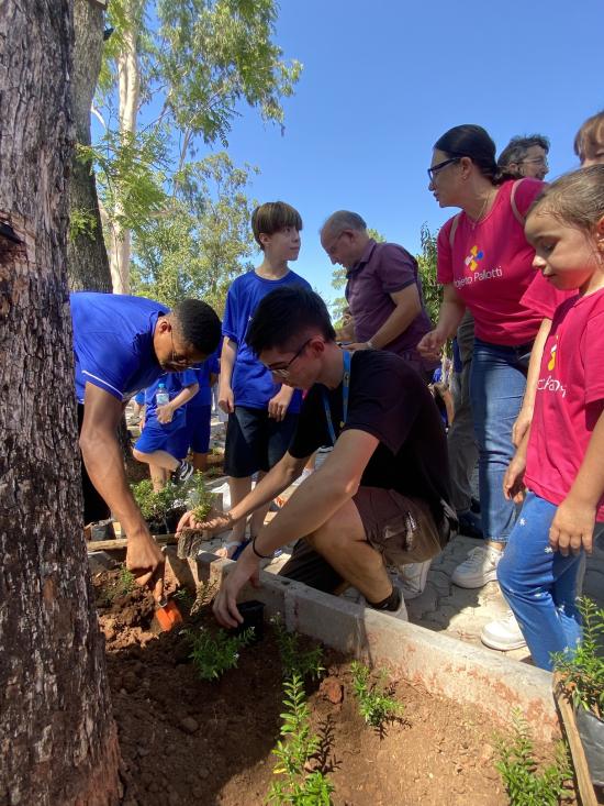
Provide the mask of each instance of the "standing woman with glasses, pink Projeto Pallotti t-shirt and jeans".
MULTIPOLYGON (((438 354, 468 308, 474 318, 470 397, 480 450, 479 485, 484 546, 458 566, 452 582, 481 587, 496 566, 515 520, 503 478, 513 455, 512 427, 526 386, 530 350, 544 317, 561 301, 533 269, 535 251, 524 219, 544 183, 501 174, 495 144, 478 125, 446 132, 435 144, 429 189, 440 207, 459 207, 438 235, 444 301, 436 328, 418 344, 438 354)), ((522 636, 519 637, 522 641, 522 636)))

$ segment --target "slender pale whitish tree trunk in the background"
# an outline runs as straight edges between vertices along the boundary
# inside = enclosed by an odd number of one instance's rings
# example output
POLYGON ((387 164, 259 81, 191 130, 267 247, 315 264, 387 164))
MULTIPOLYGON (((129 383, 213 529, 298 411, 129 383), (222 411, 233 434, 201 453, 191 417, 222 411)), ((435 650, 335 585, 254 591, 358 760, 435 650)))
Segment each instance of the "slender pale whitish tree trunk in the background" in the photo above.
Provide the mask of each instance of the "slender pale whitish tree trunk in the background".
MULTIPOLYGON (((131 137, 136 134, 136 117, 141 96, 141 67, 136 49, 137 23, 141 19, 141 0, 124 0, 124 16, 128 26, 124 30, 124 49, 118 57, 118 80, 120 95, 120 134, 131 137)), ((130 294, 131 233, 120 219, 124 209, 120 196, 112 211, 110 230, 110 267, 115 294, 130 294)))

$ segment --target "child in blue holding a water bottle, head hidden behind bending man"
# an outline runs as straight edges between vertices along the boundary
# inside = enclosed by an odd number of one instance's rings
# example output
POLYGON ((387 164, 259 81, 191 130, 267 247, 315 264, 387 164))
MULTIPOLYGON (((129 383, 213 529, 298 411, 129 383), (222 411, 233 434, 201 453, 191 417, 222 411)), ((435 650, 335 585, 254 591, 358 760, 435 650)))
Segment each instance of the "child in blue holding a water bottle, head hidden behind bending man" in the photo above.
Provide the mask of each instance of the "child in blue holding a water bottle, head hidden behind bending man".
POLYGON ((153 488, 163 489, 171 474, 186 482, 193 466, 184 461, 189 451, 187 405, 199 391, 197 373, 166 373, 145 390, 145 427, 132 451, 134 459, 149 465, 153 488), (158 405, 157 390, 165 387, 169 401, 158 405))

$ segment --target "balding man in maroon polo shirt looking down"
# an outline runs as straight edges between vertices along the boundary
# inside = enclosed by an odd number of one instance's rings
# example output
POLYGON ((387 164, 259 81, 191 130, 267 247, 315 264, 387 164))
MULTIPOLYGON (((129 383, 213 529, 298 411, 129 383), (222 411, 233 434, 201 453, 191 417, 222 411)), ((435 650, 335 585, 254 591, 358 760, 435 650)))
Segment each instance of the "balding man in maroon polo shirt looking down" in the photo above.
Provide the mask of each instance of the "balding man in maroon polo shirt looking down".
POLYGON ((324 223, 321 244, 332 263, 346 268, 346 299, 355 322, 348 350, 388 350, 432 380, 437 364, 416 345, 432 329, 415 258, 395 243, 377 243, 356 212, 339 210, 324 223))

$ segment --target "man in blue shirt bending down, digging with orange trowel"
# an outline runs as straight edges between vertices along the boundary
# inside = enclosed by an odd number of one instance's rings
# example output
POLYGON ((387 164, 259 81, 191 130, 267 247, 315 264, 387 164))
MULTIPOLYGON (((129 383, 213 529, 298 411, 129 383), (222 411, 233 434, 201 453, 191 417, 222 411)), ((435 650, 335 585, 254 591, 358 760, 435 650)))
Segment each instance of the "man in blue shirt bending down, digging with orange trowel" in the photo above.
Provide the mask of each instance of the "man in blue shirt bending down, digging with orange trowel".
POLYGON ((209 305, 186 299, 174 310, 143 297, 70 295, 76 396, 82 455, 85 522, 109 517, 127 538, 126 565, 160 598, 161 552, 130 490, 118 427, 127 400, 166 372, 182 372, 212 353, 221 323, 209 305))

